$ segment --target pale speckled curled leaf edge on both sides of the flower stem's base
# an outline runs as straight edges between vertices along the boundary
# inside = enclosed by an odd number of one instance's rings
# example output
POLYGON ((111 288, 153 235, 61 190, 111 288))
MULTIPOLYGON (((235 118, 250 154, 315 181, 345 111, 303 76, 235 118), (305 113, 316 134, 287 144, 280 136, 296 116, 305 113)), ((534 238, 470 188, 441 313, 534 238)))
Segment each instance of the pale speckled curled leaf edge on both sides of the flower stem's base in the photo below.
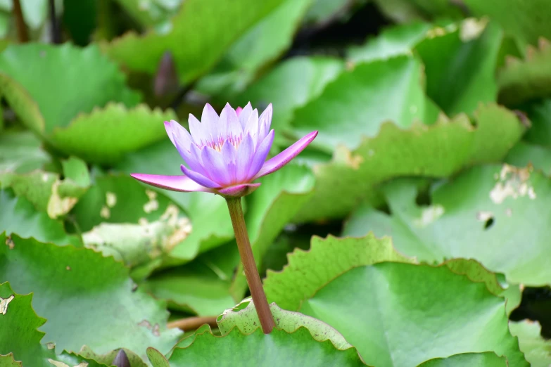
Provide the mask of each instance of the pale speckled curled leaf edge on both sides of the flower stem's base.
MULTIPOLYGON (((310 335, 318 342, 330 340, 334 347, 339 350, 353 347, 345 340, 343 335, 327 323, 322 323, 322 321, 298 312, 286 311, 274 303, 270 304, 270 311, 272 311, 275 326, 279 330, 294 333, 298 328, 307 328, 310 335)), ((255 305, 250 298, 243 300, 236 309, 224 311, 222 315, 218 316, 216 323, 222 335, 227 335, 233 328, 238 328, 243 334, 251 334, 260 326, 255 305), (246 307, 242 308, 245 304, 246 307)))

